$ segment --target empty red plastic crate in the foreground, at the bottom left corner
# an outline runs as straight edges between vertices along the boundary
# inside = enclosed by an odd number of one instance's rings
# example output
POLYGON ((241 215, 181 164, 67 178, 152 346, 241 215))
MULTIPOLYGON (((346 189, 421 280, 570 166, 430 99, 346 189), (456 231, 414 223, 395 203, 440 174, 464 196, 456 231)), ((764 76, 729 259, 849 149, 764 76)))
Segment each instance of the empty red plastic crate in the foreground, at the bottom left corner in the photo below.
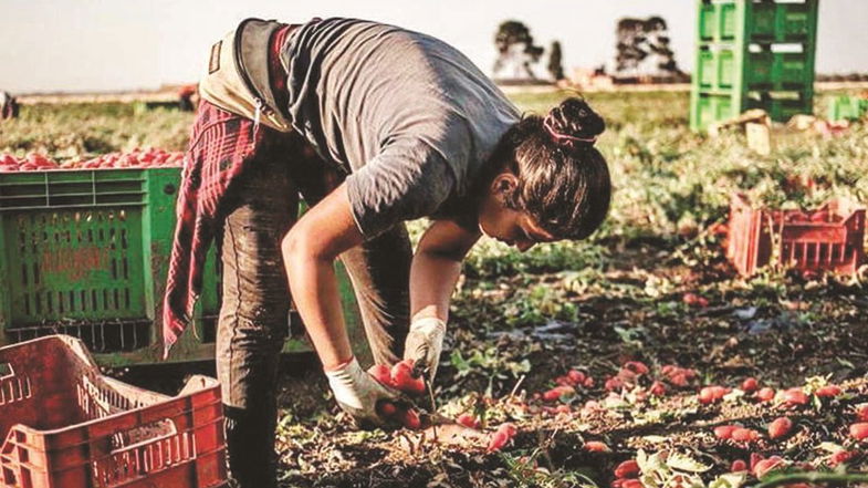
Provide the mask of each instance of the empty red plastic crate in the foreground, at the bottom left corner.
POLYGON ((0 487, 228 486, 216 380, 148 392, 101 375, 67 335, 2 347, 0 367, 0 487))

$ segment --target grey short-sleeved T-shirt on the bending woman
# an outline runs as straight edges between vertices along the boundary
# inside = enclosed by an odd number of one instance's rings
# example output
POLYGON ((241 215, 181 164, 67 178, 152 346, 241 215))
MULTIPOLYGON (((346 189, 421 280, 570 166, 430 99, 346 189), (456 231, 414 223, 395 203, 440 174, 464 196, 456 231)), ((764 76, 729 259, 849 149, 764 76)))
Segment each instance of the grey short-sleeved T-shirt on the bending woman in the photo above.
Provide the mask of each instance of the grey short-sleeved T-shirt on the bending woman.
POLYGON ((366 238, 457 207, 520 118, 458 50, 394 25, 310 22, 281 58, 292 124, 348 174, 353 217, 366 238))

